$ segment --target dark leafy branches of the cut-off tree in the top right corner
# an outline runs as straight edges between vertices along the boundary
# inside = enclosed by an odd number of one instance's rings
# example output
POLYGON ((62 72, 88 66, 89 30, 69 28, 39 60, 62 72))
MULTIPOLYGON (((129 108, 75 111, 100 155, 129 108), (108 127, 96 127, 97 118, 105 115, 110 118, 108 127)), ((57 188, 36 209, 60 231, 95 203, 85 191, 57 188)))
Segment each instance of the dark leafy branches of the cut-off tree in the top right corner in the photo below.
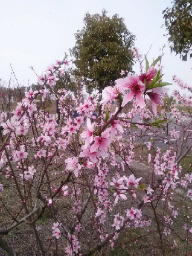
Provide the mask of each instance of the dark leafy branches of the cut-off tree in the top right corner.
POLYGON ((171 52, 186 61, 187 55, 192 57, 192 1, 173 0, 172 7, 167 7, 163 14, 171 52))

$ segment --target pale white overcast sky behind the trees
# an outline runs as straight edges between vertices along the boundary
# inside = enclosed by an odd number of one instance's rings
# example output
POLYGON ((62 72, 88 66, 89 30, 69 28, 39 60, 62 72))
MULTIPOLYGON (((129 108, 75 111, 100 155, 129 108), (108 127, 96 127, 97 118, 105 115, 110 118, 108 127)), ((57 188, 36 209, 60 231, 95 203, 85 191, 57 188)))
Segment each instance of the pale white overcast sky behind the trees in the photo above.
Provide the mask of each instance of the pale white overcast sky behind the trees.
MULTIPOLYGON (((118 13, 125 19, 130 32, 136 35, 135 46, 144 55, 150 45, 149 62, 160 54, 163 56, 164 81, 172 82, 177 74, 192 85, 190 58, 180 60, 170 54, 163 10, 171 0, 0 0, 0 79, 9 81, 10 63, 20 85, 36 83, 37 78, 29 67, 41 74, 56 59, 62 60, 64 52, 75 45, 74 34, 84 26, 86 12, 100 13, 102 9, 112 16, 118 13)), ((136 71, 139 71, 135 67, 136 71)), ((171 86, 175 89, 175 85, 171 86)))

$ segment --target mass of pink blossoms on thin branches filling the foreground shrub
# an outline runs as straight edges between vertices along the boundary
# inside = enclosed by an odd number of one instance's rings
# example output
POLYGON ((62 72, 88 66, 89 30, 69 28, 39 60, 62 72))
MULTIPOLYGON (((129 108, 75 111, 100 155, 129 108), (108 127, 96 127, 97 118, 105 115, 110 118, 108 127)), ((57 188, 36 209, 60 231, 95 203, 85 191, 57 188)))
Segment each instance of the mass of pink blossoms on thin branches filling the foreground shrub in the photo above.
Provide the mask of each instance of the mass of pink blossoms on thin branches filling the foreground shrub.
MULTIPOLYGON (((135 52, 140 58, 137 49, 135 52)), ((179 187, 187 189, 192 182, 192 175, 183 172, 179 165, 180 158, 189 152, 184 132, 188 132, 189 138, 191 124, 185 126, 185 117, 174 107, 170 117, 175 122, 174 128, 165 131, 165 111, 161 112, 162 119, 154 120, 157 105, 166 93, 160 70, 151 65, 138 76, 122 71, 125 77, 116 80, 114 87, 103 90, 99 117, 94 115, 99 97, 83 99, 81 87, 76 97, 64 89, 58 90, 61 115, 58 124, 55 116, 45 109, 37 111, 35 99, 39 96, 44 101, 50 96, 63 73, 63 64, 67 61, 56 61, 38 77, 40 90, 26 92, 10 119, 6 119, 5 113, 0 114, 1 183, 5 182, 5 186, 0 184, 1 195, 9 183, 14 184, 21 202, 17 216, 25 210, 27 219, 33 216, 34 223, 48 208, 54 216, 50 247, 55 244, 56 248, 61 242, 68 256, 84 252, 88 255, 89 247, 93 247, 93 254, 107 243, 114 246, 124 229, 144 226, 152 229, 151 222, 160 215, 160 207, 163 213, 157 221, 162 221, 163 235, 169 236, 179 215, 177 207, 172 205, 171 193, 179 187), (113 100, 119 103, 116 110, 111 107, 113 100), (132 109, 121 113, 128 102, 132 102, 132 109), (135 116, 139 121, 134 121, 135 116), (145 119, 154 121, 151 125, 143 122, 145 119), (184 135, 177 124, 183 127, 184 135), (161 129, 159 135, 157 128, 161 129), (148 132, 172 143, 170 148, 156 147, 148 132), (133 167, 135 163, 142 164, 145 158, 143 144, 142 151, 139 154, 137 151, 140 139, 147 140, 146 172, 133 167), (40 213, 36 204, 43 204, 40 213)), ((191 189, 186 194, 192 199, 191 189)), ((189 233, 192 230, 189 224, 185 229, 189 233)), ((34 230, 36 236, 38 231, 34 230)), ((173 242, 172 247, 175 246, 173 242)))

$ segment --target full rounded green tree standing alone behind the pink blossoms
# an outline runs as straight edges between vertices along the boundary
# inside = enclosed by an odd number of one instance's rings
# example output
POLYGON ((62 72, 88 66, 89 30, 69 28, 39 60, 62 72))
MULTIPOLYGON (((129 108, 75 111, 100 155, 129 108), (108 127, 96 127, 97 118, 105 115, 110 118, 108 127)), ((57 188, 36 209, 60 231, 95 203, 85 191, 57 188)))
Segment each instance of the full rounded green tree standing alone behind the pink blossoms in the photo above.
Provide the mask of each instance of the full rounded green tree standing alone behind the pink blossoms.
POLYGON ((110 18, 105 10, 102 15, 87 13, 84 24, 75 34, 76 45, 70 53, 75 58, 76 74, 88 89, 102 90, 114 84, 121 70, 131 71, 135 36, 119 15, 110 18))

